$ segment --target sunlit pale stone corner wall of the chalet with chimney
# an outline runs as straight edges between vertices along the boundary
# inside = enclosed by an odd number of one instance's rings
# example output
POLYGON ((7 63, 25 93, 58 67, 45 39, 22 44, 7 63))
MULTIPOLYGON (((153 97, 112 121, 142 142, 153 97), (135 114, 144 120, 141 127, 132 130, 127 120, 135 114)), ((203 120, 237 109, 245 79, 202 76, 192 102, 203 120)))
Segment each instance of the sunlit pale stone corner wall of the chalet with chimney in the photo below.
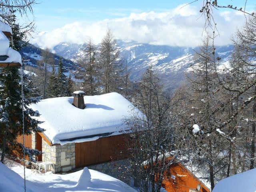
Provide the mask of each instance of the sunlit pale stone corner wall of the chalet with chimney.
POLYGON ((55 165, 55 172, 61 171, 61 153, 65 152, 64 159, 69 159, 69 164, 72 169, 76 167, 75 159, 75 143, 65 145, 49 146, 44 139, 42 139, 42 161, 50 161, 55 165))

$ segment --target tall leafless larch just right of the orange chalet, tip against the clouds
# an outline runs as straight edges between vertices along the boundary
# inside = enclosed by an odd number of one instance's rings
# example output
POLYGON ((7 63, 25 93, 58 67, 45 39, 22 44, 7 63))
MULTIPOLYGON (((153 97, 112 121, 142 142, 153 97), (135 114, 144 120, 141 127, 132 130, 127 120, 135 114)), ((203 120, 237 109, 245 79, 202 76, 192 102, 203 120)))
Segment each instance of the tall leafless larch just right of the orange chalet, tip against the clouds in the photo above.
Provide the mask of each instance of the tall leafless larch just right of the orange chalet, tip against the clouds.
POLYGON ((211 188, 214 188, 216 174, 220 173, 226 163, 221 154, 222 131, 216 129, 219 120, 226 116, 221 112, 223 100, 220 96, 218 76, 216 74, 215 48, 209 36, 204 38, 203 45, 194 56, 195 64, 187 75, 189 92, 186 100, 190 105, 187 112, 186 128, 190 133, 189 146, 192 147, 194 162, 198 166, 208 167, 211 188))

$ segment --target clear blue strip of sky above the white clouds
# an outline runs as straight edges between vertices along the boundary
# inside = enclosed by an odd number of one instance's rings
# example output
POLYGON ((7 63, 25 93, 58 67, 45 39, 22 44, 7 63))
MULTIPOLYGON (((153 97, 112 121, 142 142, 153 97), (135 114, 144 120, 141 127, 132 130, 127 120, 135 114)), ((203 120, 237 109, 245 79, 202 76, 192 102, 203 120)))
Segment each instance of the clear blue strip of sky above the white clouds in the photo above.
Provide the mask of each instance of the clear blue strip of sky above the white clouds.
MULTIPOLYGON (((64 24, 96 22, 129 16, 131 13, 164 12, 192 0, 42 0, 34 6, 34 17, 38 31, 50 30, 64 24)), ((201 6, 202 0, 193 3, 201 6)), ((219 0, 223 5, 234 4, 244 7, 245 0, 219 0)), ((247 1, 247 8, 252 9, 255 0, 247 1)), ((223 10, 220 10, 223 11, 223 10)))

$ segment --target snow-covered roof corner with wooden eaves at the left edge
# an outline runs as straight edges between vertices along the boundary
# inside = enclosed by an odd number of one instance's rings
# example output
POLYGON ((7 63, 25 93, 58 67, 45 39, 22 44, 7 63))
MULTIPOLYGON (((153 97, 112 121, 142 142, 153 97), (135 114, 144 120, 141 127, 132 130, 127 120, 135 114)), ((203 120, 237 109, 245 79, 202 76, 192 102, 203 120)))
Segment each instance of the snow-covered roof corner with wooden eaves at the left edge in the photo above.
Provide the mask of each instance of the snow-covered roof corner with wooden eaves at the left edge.
MULTIPOLYGON (((21 56, 20 53, 16 50, 10 48, 10 42, 2 30, 8 30, 8 32, 12 32, 10 26, 0 22, 0 64, 4 63, 7 65, 12 65, 15 63, 21 64, 21 56)), ((0 65, 2 66, 2 65, 0 65)))

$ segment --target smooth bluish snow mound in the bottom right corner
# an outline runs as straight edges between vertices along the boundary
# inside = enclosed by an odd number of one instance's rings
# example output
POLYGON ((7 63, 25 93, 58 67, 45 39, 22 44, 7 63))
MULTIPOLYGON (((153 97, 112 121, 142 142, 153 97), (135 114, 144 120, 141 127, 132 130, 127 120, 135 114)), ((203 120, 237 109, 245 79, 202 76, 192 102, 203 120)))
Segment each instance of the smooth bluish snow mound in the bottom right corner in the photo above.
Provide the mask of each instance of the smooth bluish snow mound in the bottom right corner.
POLYGON ((212 192, 256 192, 256 168, 220 180, 212 192))

